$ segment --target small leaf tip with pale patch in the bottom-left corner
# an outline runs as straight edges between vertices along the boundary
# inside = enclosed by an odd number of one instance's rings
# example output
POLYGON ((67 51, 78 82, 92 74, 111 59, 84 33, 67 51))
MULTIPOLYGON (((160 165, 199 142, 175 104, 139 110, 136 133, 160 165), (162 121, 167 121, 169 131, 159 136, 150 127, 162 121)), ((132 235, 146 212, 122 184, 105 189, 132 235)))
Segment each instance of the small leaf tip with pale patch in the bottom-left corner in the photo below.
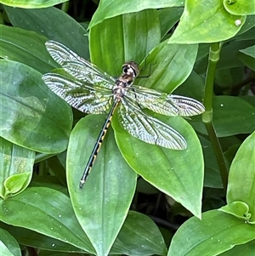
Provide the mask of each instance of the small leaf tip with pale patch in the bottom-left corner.
POLYGON ((18 242, 11 236, 8 231, 0 229, 1 242, 0 252, 4 256, 21 256, 20 246, 18 242))

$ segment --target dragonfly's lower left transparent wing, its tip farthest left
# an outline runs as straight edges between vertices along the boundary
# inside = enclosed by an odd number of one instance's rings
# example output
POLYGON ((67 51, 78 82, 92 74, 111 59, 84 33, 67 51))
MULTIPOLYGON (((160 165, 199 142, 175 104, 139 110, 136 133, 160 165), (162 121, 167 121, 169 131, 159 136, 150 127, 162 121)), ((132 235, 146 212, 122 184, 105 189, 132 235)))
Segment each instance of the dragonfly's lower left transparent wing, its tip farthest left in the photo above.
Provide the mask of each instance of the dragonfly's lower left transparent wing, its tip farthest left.
POLYGON ((112 92, 108 88, 91 86, 54 73, 43 75, 42 80, 55 94, 82 112, 103 114, 112 103, 112 92))

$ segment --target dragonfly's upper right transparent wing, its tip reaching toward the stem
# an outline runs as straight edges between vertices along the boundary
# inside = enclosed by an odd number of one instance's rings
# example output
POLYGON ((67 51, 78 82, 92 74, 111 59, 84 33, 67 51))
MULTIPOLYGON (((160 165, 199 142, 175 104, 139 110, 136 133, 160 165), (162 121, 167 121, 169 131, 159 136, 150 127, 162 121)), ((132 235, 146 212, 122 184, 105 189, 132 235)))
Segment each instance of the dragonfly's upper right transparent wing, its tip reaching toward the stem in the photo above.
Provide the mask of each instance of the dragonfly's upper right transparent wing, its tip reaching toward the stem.
POLYGON ((141 107, 170 117, 191 117, 200 115, 205 111, 204 106, 197 100, 184 96, 164 94, 154 89, 136 85, 128 89, 125 97, 137 101, 141 107))

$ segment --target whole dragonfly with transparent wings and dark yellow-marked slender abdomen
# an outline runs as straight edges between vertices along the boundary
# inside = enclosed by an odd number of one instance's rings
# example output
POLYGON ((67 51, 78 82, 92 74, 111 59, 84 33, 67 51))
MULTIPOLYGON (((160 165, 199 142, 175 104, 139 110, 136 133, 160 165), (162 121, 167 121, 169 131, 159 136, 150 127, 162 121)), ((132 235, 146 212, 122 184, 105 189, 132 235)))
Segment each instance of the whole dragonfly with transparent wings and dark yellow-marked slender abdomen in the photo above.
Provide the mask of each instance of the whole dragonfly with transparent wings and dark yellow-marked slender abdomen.
POLYGON ((169 117, 191 117, 205 111, 201 102, 134 85, 134 79, 139 77, 139 65, 134 61, 124 63, 122 75, 115 78, 61 43, 50 40, 45 45, 51 57, 68 73, 68 76, 53 72, 44 74, 42 80, 48 88, 78 111, 108 113, 84 168, 80 188, 94 165, 115 111, 122 127, 133 137, 167 149, 186 149, 187 143, 181 134, 166 123, 150 117, 144 109, 169 117))

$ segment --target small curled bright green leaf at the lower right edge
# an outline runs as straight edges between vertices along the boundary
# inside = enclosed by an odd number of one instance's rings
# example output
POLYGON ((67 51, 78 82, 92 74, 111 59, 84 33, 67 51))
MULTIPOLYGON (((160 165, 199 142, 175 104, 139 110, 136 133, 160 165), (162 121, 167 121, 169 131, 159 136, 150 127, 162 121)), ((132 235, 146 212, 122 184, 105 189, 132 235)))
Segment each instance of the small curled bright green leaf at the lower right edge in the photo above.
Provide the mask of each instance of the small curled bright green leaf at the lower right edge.
POLYGON ((249 221, 252 215, 249 213, 249 206, 245 202, 240 201, 230 202, 218 210, 246 221, 249 221))

